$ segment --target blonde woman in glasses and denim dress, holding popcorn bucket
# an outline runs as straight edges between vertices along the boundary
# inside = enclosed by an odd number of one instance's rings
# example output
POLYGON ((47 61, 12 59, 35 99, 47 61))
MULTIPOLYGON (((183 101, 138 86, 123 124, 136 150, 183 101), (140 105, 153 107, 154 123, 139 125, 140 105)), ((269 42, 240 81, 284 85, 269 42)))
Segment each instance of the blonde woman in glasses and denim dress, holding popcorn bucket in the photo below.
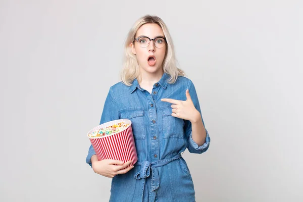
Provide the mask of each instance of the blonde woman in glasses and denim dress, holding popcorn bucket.
POLYGON ((195 201, 181 153, 203 153, 210 137, 195 87, 176 67, 171 36, 159 17, 144 16, 129 31, 121 80, 109 90, 100 124, 130 119, 138 162, 123 169, 131 162, 98 161, 92 146, 86 162, 113 178, 110 201, 195 201))

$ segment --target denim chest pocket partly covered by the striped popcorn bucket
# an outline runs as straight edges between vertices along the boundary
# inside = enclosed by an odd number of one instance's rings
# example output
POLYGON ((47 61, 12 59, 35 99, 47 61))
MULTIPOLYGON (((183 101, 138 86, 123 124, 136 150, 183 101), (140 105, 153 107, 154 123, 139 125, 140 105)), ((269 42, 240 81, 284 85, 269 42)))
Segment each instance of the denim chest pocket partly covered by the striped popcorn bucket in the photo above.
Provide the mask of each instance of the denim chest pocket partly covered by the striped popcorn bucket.
POLYGON ((124 110, 120 112, 120 119, 131 120, 131 127, 135 139, 145 139, 144 110, 124 110))

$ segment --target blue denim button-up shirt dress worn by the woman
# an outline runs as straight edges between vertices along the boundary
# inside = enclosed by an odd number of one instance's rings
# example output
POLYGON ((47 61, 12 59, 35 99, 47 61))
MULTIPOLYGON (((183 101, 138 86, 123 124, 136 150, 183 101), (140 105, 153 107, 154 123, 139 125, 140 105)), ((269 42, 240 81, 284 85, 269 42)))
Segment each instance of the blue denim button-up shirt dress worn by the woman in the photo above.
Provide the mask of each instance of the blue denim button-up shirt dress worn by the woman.
MULTIPOLYGON (((131 120, 138 155, 133 169, 113 177, 110 201, 195 201, 193 181, 181 153, 186 148, 190 153, 204 153, 210 136, 206 130, 206 142, 198 146, 191 136, 190 121, 171 116, 172 104, 161 98, 186 100, 186 89, 195 108, 201 111, 190 79, 178 76, 174 84, 168 79, 164 73, 151 94, 139 86, 137 79, 131 86, 119 82, 110 87, 100 124, 131 120)), ((90 166, 92 155, 95 151, 90 145, 86 158, 90 166)))

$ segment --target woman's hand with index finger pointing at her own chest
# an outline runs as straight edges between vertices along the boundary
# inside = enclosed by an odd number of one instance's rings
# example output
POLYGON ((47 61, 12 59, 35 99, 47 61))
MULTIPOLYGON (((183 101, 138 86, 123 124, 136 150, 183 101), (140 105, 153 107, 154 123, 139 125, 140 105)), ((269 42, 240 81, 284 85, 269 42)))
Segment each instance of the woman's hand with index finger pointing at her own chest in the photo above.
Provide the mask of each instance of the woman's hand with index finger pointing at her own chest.
POLYGON ((185 101, 171 98, 162 98, 161 101, 173 104, 171 106, 173 117, 189 120, 191 123, 195 123, 201 118, 200 113, 195 109, 188 89, 186 90, 185 95, 185 101))

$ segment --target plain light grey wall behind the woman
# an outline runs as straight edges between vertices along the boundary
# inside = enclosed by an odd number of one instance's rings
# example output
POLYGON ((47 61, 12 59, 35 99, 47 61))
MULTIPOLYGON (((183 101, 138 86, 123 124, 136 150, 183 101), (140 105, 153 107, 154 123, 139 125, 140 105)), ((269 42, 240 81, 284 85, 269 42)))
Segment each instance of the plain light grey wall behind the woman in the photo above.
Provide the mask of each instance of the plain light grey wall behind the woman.
MULTIPOLYGON (((0 1, 0 201, 108 201, 86 133, 132 24, 158 15, 193 81, 209 150, 196 201, 303 201, 301 1, 0 1)), ((130 193, 131 194, 131 193, 130 193)))

